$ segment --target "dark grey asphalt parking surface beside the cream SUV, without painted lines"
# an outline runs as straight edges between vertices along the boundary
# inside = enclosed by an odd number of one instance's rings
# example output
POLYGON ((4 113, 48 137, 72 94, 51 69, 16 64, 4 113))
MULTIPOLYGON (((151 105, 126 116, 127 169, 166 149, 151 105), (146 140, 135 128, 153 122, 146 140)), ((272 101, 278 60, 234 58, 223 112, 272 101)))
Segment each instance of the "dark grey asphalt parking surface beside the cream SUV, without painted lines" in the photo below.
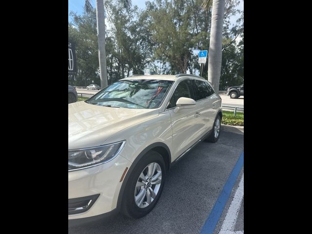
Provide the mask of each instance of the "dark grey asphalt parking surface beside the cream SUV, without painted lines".
MULTIPOLYGON (((140 219, 117 215, 109 222, 69 228, 69 234, 199 234, 223 186, 244 148, 241 131, 224 128, 216 143, 202 142, 183 157, 167 174, 162 195, 148 215, 140 219)), ((238 187, 235 182, 215 234, 219 232, 238 187)), ((243 203, 234 231, 243 231, 243 203)))

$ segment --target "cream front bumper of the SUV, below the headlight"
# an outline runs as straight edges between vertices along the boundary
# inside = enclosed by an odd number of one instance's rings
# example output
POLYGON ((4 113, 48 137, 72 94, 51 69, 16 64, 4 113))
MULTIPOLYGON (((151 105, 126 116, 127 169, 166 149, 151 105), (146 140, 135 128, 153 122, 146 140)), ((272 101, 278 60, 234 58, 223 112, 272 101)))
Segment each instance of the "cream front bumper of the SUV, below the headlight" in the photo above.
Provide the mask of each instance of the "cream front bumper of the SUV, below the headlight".
POLYGON ((130 166, 129 160, 118 155, 107 163, 68 172, 69 224, 81 224, 81 218, 97 219, 91 217, 107 216, 113 210, 117 210, 117 199, 122 185, 119 181, 126 167, 130 166), (83 209, 73 214, 75 208, 83 209), (107 215, 103 215, 105 213, 107 215), (78 219, 77 222, 74 219, 78 219))

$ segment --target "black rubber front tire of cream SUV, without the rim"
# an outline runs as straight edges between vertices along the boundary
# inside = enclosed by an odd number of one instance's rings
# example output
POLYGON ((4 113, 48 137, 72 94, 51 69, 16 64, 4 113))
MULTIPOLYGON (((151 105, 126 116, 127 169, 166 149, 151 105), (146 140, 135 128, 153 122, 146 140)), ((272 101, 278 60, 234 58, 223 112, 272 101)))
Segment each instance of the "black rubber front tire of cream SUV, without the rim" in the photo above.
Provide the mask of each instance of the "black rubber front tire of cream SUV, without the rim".
MULTIPOLYGON (((166 176, 166 166, 163 157, 157 153, 156 151, 149 151, 144 155, 140 161, 137 163, 134 170, 131 172, 129 180, 127 181, 123 199, 122 199, 122 206, 121 206, 121 213, 127 217, 132 218, 140 218, 147 215, 149 212, 153 210, 155 207, 162 189, 165 183, 165 176, 166 176), (158 190, 158 193, 154 200, 145 208, 139 208, 135 202, 135 189, 138 178, 142 171, 150 164, 156 162, 161 168, 161 183, 158 190)), ((153 186, 153 185, 152 185, 153 186)), ((156 185, 155 185, 156 186, 156 185)), ((152 187, 153 188, 153 187, 152 187)), ((155 188, 155 187, 154 187, 155 188)), ((144 198, 145 199, 145 198, 144 198)), ((144 202, 143 202, 144 203, 144 202)))

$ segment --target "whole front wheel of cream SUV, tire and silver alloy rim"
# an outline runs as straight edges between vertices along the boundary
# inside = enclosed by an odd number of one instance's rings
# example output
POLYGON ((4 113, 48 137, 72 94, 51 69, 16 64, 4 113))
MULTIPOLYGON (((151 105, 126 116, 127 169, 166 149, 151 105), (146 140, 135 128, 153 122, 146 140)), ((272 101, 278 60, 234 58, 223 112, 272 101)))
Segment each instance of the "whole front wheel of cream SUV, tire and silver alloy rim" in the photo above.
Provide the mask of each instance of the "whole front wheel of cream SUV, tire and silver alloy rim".
POLYGON ((122 213, 140 218, 155 207, 164 187, 166 167, 156 151, 148 152, 132 171, 125 187, 122 213))

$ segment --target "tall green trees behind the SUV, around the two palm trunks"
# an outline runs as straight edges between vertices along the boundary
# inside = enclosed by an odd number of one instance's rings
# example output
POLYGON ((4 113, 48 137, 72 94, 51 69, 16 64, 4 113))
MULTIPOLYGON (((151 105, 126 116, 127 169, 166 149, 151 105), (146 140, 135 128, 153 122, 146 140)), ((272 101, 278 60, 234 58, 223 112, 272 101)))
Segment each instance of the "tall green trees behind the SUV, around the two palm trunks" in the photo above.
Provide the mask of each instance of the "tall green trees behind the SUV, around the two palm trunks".
MULTIPOLYGON (((210 0, 206 2, 211 4, 210 0)), ((241 13, 235 8, 238 2, 226 1, 220 90, 239 85, 244 79, 243 14, 237 25, 229 21, 232 15, 241 13)), ((200 72, 195 50, 209 48, 212 10, 204 9, 202 3, 154 0, 146 1, 146 9, 139 10, 131 0, 105 1, 108 84, 130 72, 143 74, 145 67, 150 67, 152 74, 200 72)), ((78 73, 68 77, 69 84, 86 86, 92 80, 100 84, 95 9, 86 0, 82 15, 70 14, 73 23, 68 24, 68 38, 76 46, 78 73)), ((203 66, 204 78, 207 70, 208 62, 203 66)))

